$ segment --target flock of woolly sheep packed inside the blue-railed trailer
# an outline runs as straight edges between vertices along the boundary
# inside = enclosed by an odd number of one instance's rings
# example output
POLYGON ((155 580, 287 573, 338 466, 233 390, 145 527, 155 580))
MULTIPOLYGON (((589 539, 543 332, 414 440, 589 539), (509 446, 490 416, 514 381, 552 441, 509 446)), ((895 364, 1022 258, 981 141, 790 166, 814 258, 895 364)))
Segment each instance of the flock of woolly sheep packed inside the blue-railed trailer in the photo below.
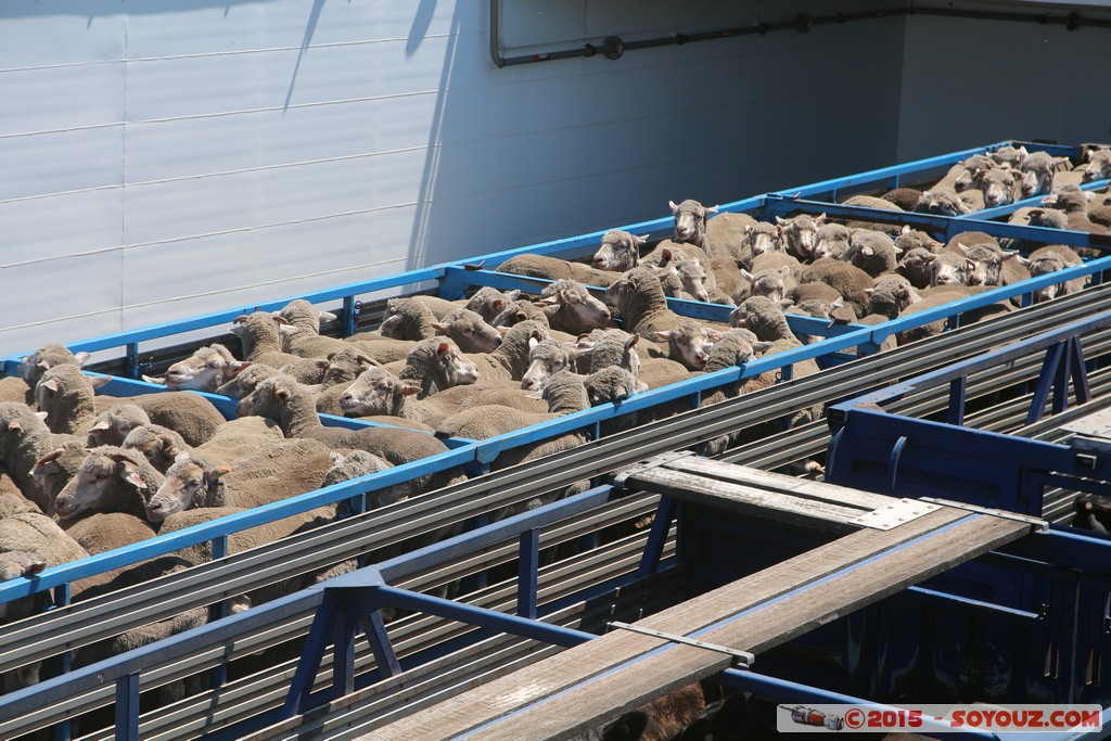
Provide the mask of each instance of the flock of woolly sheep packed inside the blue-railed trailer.
MULTIPOLYGON (((1004 148, 958 163, 929 190, 900 188, 847 202, 957 214, 1045 194, 1039 208, 1021 209, 1011 220, 1107 232, 1111 194, 1077 186, 1111 177, 1111 151, 1090 153, 1090 161, 1073 167, 1043 152, 1004 148)), ((169 390, 238 399, 232 420, 199 394, 98 395, 109 379, 83 373, 86 357, 43 346, 23 359, 18 378, 0 379, 0 580, 421 460, 447 451, 444 438, 488 439, 818 339, 797 336, 788 313, 877 324, 1092 257, 980 232, 941 243, 909 227, 890 231, 805 214, 768 223, 742 213, 714 216, 715 209, 692 200, 670 206, 674 236, 657 244, 614 230, 589 264, 520 254, 498 268, 550 280, 538 296, 482 288, 458 302, 392 299, 378 330, 346 339, 322 336, 321 323, 336 317, 298 300, 279 312, 237 319, 230 331, 239 339, 239 357, 212 344, 176 362, 163 378, 147 379, 169 390), (591 292, 599 288, 601 299, 591 292), (699 321, 675 313, 669 297, 735 308, 728 324, 699 321), (321 412, 384 427, 326 427, 321 412)), ((1069 281, 1039 291, 1034 300, 1081 288, 1082 280, 1069 281)), ((1004 301, 979 317, 1013 309, 1004 301)), ((897 340, 937 331, 940 326, 921 327, 897 340)), ((793 369, 797 375, 817 371, 812 360, 793 369)), ((722 387, 702 403, 773 383, 774 375, 722 387)), ((820 413, 820 408, 799 410, 791 421, 820 413)), ((568 450, 585 435, 572 432, 507 451, 494 468, 568 450)), ((705 452, 733 442, 711 441, 705 452)), ((463 475, 452 470, 422 477, 372 492, 370 504, 389 504, 463 475)), ((251 548, 336 517, 334 505, 319 508, 238 533, 230 548, 251 548)), ((73 600, 210 555, 196 547, 180 558, 87 579, 73 584, 73 600)), ((280 588, 299 589, 353 565, 280 588)), ((246 609, 271 599, 280 588, 243 595, 238 604, 246 609)), ((41 608, 30 599, 12 602, 0 605, 0 619, 41 608)), ((206 617, 206 610, 193 610, 159 630, 89 647, 78 652, 76 665, 206 617)), ((4 689, 37 679, 37 668, 27 668, 6 677, 4 689)))

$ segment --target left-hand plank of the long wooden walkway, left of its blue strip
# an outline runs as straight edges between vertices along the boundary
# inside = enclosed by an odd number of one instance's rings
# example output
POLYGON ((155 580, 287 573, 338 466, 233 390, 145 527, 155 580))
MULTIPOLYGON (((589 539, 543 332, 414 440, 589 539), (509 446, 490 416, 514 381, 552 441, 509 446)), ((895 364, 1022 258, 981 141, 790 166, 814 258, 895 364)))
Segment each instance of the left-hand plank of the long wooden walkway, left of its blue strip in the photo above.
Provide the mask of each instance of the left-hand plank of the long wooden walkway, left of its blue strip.
MULTIPOLYGON (((925 533, 971 517, 974 515, 952 508, 942 508, 894 530, 858 530, 650 615, 637 624, 670 633, 692 633, 761 602, 782 597, 842 569, 864 562, 878 553, 898 548, 925 533)), ((671 644, 651 635, 628 631, 610 632, 584 645, 568 649, 548 659, 543 662, 542 670, 538 667, 520 674, 500 677, 480 689, 440 703, 432 710, 414 713, 378 729, 374 738, 383 740, 452 738, 517 712, 543 698, 563 692, 583 680, 611 671, 614 667, 662 645, 671 644)), ((697 651, 704 653, 701 650, 697 651)), ((641 697, 647 695, 637 695, 633 701, 639 704, 641 697)), ((615 704, 612 707, 619 707, 621 702, 623 701, 620 697, 614 695, 615 704)), ((575 717, 577 713, 572 712, 567 718, 575 717)), ((537 734, 524 734, 519 738, 537 738, 537 734)))

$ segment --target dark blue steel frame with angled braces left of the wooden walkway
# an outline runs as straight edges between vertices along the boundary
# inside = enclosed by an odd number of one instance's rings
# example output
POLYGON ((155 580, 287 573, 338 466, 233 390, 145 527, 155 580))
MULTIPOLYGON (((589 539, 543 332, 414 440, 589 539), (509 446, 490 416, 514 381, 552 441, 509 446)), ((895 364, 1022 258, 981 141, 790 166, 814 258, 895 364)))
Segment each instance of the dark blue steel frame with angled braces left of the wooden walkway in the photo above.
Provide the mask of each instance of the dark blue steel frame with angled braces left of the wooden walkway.
MULTIPOLYGON (((47 680, 41 684, 13 692, 6 695, 3 702, 0 702, 0 730, 6 728, 6 722, 31 710, 40 710, 66 698, 102 687, 106 682, 113 682, 117 687, 116 738, 138 739, 140 719, 137 700, 144 671, 233 642, 239 635, 262 630, 276 621, 300 613, 306 608, 314 609, 316 618, 283 707, 214 732, 213 739, 232 739, 257 731, 271 723, 309 711, 373 681, 410 669, 411 667, 403 665, 403 662, 398 659, 390 642, 387 625, 378 617, 378 611, 386 607, 404 608, 424 614, 439 615, 493 633, 509 633, 553 645, 578 645, 591 640, 594 634, 543 622, 542 615, 554 611, 558 605, 538 605, 536 603, 534 584, 538 579, 537 548, 539 542, 536 533, 544 527, 581 517, 583 512, 604 505, 614 497, 614 493, 611 487, 599 487, 530 512, 507 518, 474 532, 448 539, 419 551, 383 561, 374 567, 329 580, 318 587, 259 605, 244 613, 214 621, 156 645, 138 649, 70 672, 64 677, 47 680), (389 585, 391 582, 401 581, 409 574, 427 570, 448 559, 480 551, 496 543, 513 539, 520 543, 520 561, 522 563, 518 579, 520 595, 518 614, 488 610, 389 585), (373 677, 357 677, 354 672, 353 649, 360 629, 376 657, 378 669, 372 672, 373 677), (310 691, 312 679, 318 673, 329 645, 333 647, 332 685, 313 693, 310 691)), ((672 504, 671 499, 661 498, 661 515, 664 508, 670 508, 672 504)), ((679 517, 682 517, 681 512, 679 517)), ((679 528, 680 533, 685 530, 684 527, 679 528)), ((732 548, 738 548, 744 542, 720 532, 718 537, 723 538, 723 542, 727 544, 732 543, 732 548)), ((654 560, 650 553, 653 547, 653 543, 650 543, 645 548, 644 562, 654 560)), ((1103 539, 1052 531, 1043 535, 1028 537, 1002 549, 1002 552, 988 554, 983 559, 1002 562, 1007 568, 1023 573, 1028 578, 1045 579, 1052 577, 1059 579, 1061 573, 1077 574, 1082 568, 1091 570, 1089 568, 1090 559, 1094 553, 1103 552, 1105 549, 1107 541, 1103 539)), ((678 568, 678 565, 675 559, 660 564, 661 568, 669 569, 678 568)), ((697 562, 690 563, 687 568, 698 569, 699 564, 697 562)), ((1104 590, 1102 593, 1105 593, 1105 590, 1111 588, 1111 574, 1107 573, 1107 568, 1100 569, 1100 571, 1102 589, 1104 590)), ((629 584, 640 578, 642 574, 638 573, 613 580, 608 584, 599 584, 591 589, 591 593, 600 593, 600 590, 604 591, 629 584)), ((1083 575, 1080 577, 1080 579, 1083 578, 1083 575)), ((1090 591, 1082 594, 1084 599, 1079 599, 1079 587, 1073 584, 1073 591, 1057 594, 1053 602, 1047 604, 1045 612, 1054 612, 1059 607, 1068 608, 1071 602, 1080 602, 1089 613, 1104 615, 1105 619, 1105 605, 1102 602, 1097 604, 1089 599, 1091 594, 1088 592, 1090 591), (1092 612, 1093 610, 1095 612, 1092 612)), ((948 605, 948 610, 959 608, 975 611, 984 614, 985 619, 989 620, 993 614, 1013 615, 1034 622, 1045 622, 1047 620, 1043 613, 1022 612, 989 601, 969 599, 923 587, 908 590, 904 597, 912 602, 922 602, 923 600, 940 602, 948 605)), ((583 597, 568 598, 568 600, 575 599, 583 599, 583 597)), ((902 598, 889 598, 885 603, 898 602, 900 599, 902 598)), ((1084 633, 1082 630, 1082 622, 1080 620, 1058 620, 1054 624, 1062 625, 1062 629, 1068 633, 1064 638, 1071 644, 1078 640, 1092 638, 1091 634, 1084 633)), ((900 641, 908 644, 908 635, 901 634, 900 641)), ((910 641, 910 648, 914 648, 913 641, 910 641)), ((798 678, 783 678, 760 673, 751 669, 727 670, 715 679, 733 689, 751 691, 779 702, 887 707, 882 702, 868 699, 867 694, 857 695, 829 690, 812 683, 802 683, 798 681, 798 678)), ((1082 679, 1079 678, 1078 681, 1082 682, 1082 679)), ((1078 694, 1071 701, 1091 702, 1091 699, 1078 694)), ((1104 718, 1111 718, 1111 710, 1104 713, 1104 718)), ((992 738, 990 734, 974 735, 992 738)), ((1039 738, 1057 740, 1079 737, 1053 734, 1039 738)))

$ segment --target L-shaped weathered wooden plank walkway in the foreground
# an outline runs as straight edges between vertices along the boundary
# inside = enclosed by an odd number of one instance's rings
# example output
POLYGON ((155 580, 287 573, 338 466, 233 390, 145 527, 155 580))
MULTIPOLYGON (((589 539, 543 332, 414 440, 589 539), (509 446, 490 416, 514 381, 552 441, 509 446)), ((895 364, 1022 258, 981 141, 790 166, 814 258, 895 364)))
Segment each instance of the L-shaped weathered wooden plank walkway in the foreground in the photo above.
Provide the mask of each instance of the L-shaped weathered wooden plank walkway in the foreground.
MULTIPOLYGON (((625 485, 777 519, 825 519, 852 532, 635 623, 759 655, 780 643, 977 558, 1035 523, 954 507, 919 508, 820 482, 704 459, 651 464, 625 485), (699 480, 701 479, 701 480, 699 480), (889 529, 854 524, 889 507, 889 529), (800 514, 801 513, 801 514, 800 514), (901 514, 902 522, 898 522, 901 514)), ((384 739, 564 739, 730 668, 733 657, 614 630, 376 730, 384 739)), ((759 660, 757 661, 759 667, 759 660)))

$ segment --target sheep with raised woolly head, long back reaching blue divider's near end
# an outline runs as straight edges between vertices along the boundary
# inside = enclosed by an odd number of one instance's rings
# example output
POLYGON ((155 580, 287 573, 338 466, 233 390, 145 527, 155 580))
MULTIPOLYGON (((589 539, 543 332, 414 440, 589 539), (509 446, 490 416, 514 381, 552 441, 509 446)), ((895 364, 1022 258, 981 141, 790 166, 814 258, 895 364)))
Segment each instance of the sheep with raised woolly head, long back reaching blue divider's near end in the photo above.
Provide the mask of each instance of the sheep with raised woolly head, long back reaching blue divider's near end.
MULTIPOLYGON (((237 411, 239 417, 268 417, 274 420, 287 438, 316 439, 332 450, 366 450, 394 465, 447 451, 439 440, 414 430, 326 428, 317 417, 311 392, 288 375, 276 375, 259 383, 254 391, 240 400, 237 411)), ((420 477, 413 485, 423 491, 424 487, 444 485, 457 477, 454 471, 444 471, 431 477, 420 477)))

